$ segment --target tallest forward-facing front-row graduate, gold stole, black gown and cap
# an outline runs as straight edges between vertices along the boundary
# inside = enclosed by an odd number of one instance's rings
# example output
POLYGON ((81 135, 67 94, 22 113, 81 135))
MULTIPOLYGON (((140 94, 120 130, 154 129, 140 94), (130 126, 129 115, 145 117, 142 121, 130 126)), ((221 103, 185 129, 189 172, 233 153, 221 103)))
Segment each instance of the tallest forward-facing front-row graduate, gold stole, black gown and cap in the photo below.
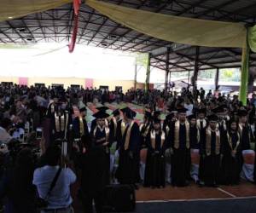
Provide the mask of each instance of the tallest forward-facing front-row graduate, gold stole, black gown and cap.
POLYGON ((177 110, 178 119, 172 124, 169 139, 172 147, 172 186, 185 187, 190 179, 190 141, 189 122, 186 108, 177 110))

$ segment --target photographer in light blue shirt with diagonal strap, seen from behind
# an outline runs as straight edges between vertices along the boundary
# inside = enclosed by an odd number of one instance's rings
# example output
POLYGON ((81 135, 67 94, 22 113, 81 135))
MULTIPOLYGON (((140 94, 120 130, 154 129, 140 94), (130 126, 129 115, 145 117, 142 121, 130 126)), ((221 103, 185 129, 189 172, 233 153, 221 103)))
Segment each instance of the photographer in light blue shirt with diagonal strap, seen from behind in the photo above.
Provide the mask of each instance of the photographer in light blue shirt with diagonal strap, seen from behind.
POLYGON ((70 186, 76 175, 69 168, 61 168, 61 148, 53 145, 44 153, 45 165, 34 172, 33 184, 38 189, 41 213, 72 213, 70 186))

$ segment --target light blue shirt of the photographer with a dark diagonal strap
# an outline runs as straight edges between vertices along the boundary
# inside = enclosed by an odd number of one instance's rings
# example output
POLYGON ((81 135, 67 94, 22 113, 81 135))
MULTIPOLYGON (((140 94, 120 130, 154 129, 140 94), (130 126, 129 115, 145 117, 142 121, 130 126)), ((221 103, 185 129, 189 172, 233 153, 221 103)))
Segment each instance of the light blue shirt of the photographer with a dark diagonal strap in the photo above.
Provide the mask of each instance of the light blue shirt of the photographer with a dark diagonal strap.
MULTIPOLYGON (((46 165, 34 171, 33 184, 37 186, 40 198, 45 199, 58 169, 59 166, 46 165)), ((73 199, 70 195, 70 185, 76 181, 76 178, 72 170, 68 168, 61 170, 55 187, 50 193, 47 209, 61 209, 72 204, 73 199)))

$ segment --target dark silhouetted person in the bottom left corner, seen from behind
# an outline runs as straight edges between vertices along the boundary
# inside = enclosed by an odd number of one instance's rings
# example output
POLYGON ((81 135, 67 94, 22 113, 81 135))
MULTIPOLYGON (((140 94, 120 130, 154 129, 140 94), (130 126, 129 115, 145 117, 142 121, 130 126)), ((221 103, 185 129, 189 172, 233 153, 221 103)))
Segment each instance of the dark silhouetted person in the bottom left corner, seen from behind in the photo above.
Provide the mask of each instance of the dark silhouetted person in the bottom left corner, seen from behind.
POLYGON ((34 161, 32 150, 23 148, 0 181, 0 198, 7 198, 5 213, 36 213, 36 188, 32 185, 34 161))

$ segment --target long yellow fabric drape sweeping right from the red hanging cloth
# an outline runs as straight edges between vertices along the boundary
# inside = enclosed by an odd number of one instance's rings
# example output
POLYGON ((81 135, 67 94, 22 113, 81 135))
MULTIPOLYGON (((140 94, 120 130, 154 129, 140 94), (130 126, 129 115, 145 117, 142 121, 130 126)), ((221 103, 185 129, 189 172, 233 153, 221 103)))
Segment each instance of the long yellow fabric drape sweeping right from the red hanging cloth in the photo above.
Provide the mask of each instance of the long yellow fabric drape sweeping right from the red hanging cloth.
POLYGON ((137 32, 162 40, 206 47, 242 48, 246 27, 240 23, 191 19, 87 0, 91 8, 137 32))

